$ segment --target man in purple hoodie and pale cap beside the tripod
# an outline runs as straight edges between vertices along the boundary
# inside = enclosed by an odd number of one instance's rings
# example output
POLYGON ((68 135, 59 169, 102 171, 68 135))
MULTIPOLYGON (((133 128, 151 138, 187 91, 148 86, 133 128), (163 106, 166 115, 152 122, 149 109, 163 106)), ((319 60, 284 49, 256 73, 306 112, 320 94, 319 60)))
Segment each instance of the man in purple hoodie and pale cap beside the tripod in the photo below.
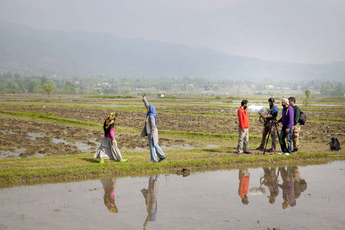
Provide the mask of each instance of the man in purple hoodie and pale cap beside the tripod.
POLYGON ((279 143, 282 148, 283 153, 292 153, 292 131, 294 129, 294 108, 289 105, 289 100, 286 98, 282 99, 283 106, 283 116, 280 118, 277 123, 282 122, 283 127, 279 135, 279 143), (288 148, 286 148, 285 143, 288 143, 288 148))

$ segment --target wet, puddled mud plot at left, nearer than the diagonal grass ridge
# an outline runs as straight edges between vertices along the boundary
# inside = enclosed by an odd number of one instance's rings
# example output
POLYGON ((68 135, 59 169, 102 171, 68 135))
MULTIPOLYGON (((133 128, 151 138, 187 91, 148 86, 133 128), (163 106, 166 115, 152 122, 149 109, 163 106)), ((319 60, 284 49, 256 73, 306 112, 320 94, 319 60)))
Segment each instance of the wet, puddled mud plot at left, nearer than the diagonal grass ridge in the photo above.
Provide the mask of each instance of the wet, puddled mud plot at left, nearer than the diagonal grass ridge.
MULTIPOLYGON (((36 154, 68 155, 80 153, 94 153, 103 138, 102 130, 63 126, 60 124, 36 121, 22 121, 17 118, 2 117, 0 120, 0 151, 6 157, 16 157, 8 151, 16 153, 16 149, 23 149, 19 157, 31 157, 36 154), (82 143, 84 151, 78 148, 82 143), (87 148, 89 146, 90 148, 87 148), (8 156, 11 155, 11 156, 8 156)), ((140 134, 116 134, 119 148, 135 149, 148 148, 147 140, 140 134)), ((183 141, 184 142, 184 141, 183 141)), ((181 140, 161 138, 162 145, 180 144, 181 140)))

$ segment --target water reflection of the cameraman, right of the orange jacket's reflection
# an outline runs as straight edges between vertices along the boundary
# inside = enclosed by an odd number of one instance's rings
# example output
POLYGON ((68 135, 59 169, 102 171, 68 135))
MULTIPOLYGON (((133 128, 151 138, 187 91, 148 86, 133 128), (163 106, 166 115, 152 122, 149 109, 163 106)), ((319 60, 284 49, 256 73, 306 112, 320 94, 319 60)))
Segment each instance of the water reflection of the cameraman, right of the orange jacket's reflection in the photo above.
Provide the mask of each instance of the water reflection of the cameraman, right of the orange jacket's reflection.
POLYGON ((269 189, 269 196, 268 196, 268 202, 273 204, 276 200, 276 197, 279 194, 278 189, 278 175, 276 174, 276 168, 271 167, 269 168, 263 168, 264 169, 264 177, 263 181, 261 182, 269 189))

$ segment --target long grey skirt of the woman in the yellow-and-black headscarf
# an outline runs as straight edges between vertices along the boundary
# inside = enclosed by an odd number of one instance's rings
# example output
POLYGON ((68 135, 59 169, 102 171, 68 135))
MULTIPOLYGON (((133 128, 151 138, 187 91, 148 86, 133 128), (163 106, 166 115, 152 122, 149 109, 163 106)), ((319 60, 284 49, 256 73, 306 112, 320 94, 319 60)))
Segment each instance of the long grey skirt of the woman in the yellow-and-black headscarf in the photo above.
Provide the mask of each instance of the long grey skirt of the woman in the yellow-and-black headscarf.
POLYGON ((115 159, 122 160, 121 153, 117 147, 117 142, 115 140, 114 144, 111 144, 112 139, 103 137, 102 143, 97 149, 94 158, 104 158, 104 159, 115 159))

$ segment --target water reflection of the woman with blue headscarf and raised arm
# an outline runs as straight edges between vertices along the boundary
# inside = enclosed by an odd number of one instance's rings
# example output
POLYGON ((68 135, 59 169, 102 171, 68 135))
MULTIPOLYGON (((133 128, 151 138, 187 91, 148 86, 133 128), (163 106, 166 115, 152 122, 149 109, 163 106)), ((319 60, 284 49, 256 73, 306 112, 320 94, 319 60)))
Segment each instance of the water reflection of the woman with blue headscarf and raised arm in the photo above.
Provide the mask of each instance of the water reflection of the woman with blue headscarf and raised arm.
POLYGON ((156 220, 156 213, 157 213, 157 197, 158 197, 158 178, 161 174, 157 176, 152 176, 149 179, 149 186, 147 189, 141 189, 141 193, 145 198, 146 209, 147 209, 147 217, 144 222, 144 229, 148 222, 154 222, 156 220))

